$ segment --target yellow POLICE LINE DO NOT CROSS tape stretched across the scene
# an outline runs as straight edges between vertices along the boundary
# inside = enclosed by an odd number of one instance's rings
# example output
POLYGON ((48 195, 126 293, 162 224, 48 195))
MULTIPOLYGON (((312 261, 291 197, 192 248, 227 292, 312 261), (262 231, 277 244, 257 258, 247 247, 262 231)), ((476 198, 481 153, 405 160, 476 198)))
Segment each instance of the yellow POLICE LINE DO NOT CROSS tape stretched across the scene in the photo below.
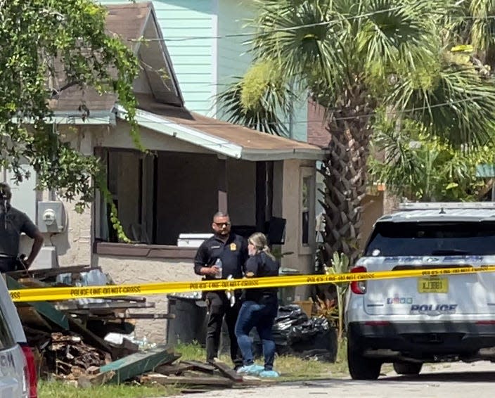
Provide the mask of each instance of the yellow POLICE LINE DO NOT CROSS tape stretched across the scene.
POLYGON ((25 288, 10 290, 14 302, 37 302, 75 300, 81 298, 118 297, 122 295, 162 295, 167 293, 186 293, 200 290, 234 290, 252 288, 281 288, 284 286, 317 285, 323 283, 348 283, 395 278, 414 278, 418 276, 445 276, 494 272, 495 266, 439 269, 405 269, 399 271, 376 271, 326 275, 270 276, 212 281, 143 283, 136 285, 100 285, 62 288, 25 288))

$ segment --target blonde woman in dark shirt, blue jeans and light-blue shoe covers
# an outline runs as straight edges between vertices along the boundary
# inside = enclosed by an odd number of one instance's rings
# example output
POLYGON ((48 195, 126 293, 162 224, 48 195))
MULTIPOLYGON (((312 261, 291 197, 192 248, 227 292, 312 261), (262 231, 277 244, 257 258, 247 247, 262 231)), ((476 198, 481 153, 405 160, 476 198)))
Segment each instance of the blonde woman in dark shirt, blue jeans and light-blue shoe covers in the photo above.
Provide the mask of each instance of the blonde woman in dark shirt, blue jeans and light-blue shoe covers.
MULTIPOLYGON (((278 276, 280 264, 271 255, 266 236, 263 233, 253 233, 248 239, 250 258, 246 262, 245 276, 261 278, 263 276, 278 276)), ((256 288, 243 291, 242 306, 236 323, 236 337, 243 353, 243 366, 239 373, 259 375, 260 377, 276 378, 274 371, 275 341, 271 329, 278 312, 278 289, 256 288), (262 340, 264 366, 255 364, 252 356, 252 343, 249 333, 256 328, 262 340)))

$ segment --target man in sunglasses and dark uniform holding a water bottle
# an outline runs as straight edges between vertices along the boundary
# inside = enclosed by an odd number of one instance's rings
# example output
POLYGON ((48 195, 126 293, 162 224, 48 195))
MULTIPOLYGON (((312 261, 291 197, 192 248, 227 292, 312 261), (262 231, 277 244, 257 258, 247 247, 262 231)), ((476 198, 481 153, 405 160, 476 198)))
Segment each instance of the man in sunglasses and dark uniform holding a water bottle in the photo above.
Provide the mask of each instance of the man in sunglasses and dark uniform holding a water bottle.
MULTIPOLYGON (((248 259, 248 244, 242 236, 231 233, 231 221, 228 214, 217 212, 213 216, 212 229, 214 236, 205 240, 194 259, 195 274, 205 276, 205 279, 242 278, 243 269, 248 259)), ((231 359, 234 368, 243 364, 237 345, 234 328, 240 309, 240 291, 233 292, 229 300, 223 291, 206 292, 205 300, 208 310, 206 331, 206 359, 214 361, 218 357, 221 324, 225 323, 229 330, 231 359)))

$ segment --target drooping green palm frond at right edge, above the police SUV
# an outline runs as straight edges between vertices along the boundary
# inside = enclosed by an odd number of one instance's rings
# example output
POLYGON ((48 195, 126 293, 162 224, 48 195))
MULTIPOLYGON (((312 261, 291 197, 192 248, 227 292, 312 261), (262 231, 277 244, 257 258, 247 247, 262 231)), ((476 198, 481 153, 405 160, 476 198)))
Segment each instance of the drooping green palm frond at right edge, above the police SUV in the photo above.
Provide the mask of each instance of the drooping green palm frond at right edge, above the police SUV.
POLYGON ((428 87, 403 77, 386 98, 398 115, 421 120, 455 145, 482 145, 493 139, 495 81, 478 75, 473 65, 444 61, 428 87))

